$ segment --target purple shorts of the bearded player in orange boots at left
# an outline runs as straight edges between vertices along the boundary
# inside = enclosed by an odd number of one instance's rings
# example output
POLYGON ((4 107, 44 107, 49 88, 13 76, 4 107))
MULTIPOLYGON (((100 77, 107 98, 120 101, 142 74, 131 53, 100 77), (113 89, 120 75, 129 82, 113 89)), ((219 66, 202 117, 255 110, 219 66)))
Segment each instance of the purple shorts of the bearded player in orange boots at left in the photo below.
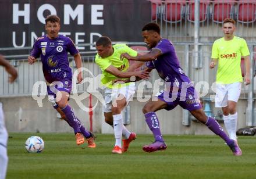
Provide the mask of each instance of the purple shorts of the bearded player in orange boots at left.
POLYGON ((70 94, 72 90, 72 79, 63 79, 58 82, 51 83, 51 85, 47 86, 48 95, 54 95, 56 98, 56 94, 58 91, 66 91, 70 94))

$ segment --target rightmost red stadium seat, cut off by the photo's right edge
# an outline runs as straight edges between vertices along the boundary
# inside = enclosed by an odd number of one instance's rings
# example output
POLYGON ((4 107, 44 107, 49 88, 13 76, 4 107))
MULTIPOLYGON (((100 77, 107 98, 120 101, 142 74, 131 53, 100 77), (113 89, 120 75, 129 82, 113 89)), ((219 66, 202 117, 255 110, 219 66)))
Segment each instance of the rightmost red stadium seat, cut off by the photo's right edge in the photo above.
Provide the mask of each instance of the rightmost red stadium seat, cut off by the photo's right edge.
POLYGON ((256 1, 240 0, 237 3, 237 21, 241 23, 253 23, 256 20, 256 1))

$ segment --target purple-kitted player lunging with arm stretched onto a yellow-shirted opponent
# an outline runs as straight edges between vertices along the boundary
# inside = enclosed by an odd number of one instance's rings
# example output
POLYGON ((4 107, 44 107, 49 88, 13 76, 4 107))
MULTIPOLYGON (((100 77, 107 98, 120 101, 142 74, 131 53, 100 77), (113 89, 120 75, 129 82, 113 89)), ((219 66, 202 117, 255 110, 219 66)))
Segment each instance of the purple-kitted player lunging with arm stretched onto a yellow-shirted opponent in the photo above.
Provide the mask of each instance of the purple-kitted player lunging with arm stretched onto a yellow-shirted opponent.
MULTIPOLYGON (((172 110, 177 105, 187 109, 201 123, 205 124, 212 132, 219 135, 230 147, 233 155, 241 155, 241 149, 236 141, 229 139, 219 123, 212 117, 207 117, 202 110, 198 96, 195 94, 193 84, 179 65, 179 60, 173 44, 163 39, 160 28, 156 23, 148 23, 142 29, 144 42, 151 49, 141 56, 130 56, 123 53, 120 58, 146 62, 148 71, 156 69, 159 76, 165 80, 165 90, 158 94, 157 101, 149 101, 143 108, 145 120, 155 137, 155 142, 143 146, 145 152, 154 152, 167 148, 159 127, 157 112, 160 109, 172 110)), ((140 80, 140 79, 136 79, 140 80)), ((126 80, 125 82, 128 82, 126 80)))

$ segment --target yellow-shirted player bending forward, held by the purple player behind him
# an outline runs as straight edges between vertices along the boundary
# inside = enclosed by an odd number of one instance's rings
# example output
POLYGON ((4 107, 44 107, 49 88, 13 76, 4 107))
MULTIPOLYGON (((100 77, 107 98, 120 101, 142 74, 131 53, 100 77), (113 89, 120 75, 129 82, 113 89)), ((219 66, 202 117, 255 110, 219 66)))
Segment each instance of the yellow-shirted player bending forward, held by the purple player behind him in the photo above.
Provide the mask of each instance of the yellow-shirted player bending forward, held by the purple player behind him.
MULTIPOLYGON (((134 83, 112 84, 117 78, 130 78, 131 76, 147 79, 148 72, 146 71, 130 71, 129 61, 121 60, 122 53, 129 53, 131 56, 137 56, 137 52, 129 48, 125 44, 116 44, 112 46, 111 40, 108 37, 100 37, 96 42, 98 54, 95 57, 95 62, 102 70, 101 84, 105 88, 105 106, 104 116, 106 123, 110 124, 115 133, 115 146, 112 153, 126 152, 129 144, 136 138, 135 133, 130 133, 123 125, 122 110, 127 103, 133 98, 135 92, 134 83), (122 135, 123 147, 122 147, 122 135)), ((140 64, 137 64, 138 66, 140 64)), ((135 67, 138 67, 134 65, 135 67)))

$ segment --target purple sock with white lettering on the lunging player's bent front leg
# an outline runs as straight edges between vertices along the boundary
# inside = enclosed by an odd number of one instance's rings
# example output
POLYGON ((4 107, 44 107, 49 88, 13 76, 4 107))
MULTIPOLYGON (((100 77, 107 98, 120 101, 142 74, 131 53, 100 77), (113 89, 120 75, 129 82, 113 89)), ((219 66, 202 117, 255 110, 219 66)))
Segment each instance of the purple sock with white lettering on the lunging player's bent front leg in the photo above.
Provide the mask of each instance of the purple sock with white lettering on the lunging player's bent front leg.
POLYGON ((160 128, 159 128, 159 121, 157 118, 157 114, 155 114, 155 112, 146 113, 145 119, 148 124, 148 127, 150 128, 150 130, 152 131, 152 133, 155 137, 155 141, 164 142, 160 128))

